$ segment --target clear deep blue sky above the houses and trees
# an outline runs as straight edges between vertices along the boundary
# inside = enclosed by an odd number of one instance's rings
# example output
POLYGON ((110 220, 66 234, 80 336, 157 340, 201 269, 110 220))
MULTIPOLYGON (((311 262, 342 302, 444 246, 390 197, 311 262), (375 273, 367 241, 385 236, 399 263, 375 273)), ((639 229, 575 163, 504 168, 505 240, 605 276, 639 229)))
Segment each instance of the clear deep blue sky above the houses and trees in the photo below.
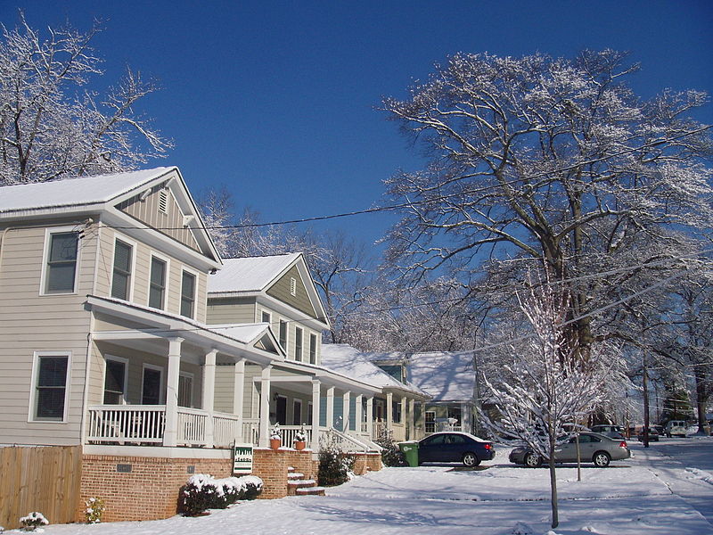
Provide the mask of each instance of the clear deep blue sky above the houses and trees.
MULTIPOLYGON (((107 76, 129 65, 163 89, 141 110, 176 148, 193 193, 225 185, 237 211, 265 221, 360 210, 381 181, 417 169, 397 125, 375 110, 403 96, 434 62, 456 52, 571 56, 628 50, 644 97, 664 87, 713 89, 713 4, 619 2, 93 2, 0 0, 0 21, 21 8, 33 27, 105 21, 95 49, 107 76)), ((709 105, 698 119, 713 122, 709 105)), ((373 243, 392 216, 314 224, 373 243)))

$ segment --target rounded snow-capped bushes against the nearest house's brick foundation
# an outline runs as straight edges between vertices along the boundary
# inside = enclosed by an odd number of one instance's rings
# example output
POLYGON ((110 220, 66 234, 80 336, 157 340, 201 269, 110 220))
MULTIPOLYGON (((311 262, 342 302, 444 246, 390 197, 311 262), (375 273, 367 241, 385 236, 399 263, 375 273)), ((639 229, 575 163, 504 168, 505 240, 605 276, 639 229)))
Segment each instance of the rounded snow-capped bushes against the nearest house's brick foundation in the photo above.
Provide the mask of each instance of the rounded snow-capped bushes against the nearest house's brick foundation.
POLYGON ((255 475, 213 479, 202 473, 192 475, 181 488, 178 509, 184 516, 198 516, 208 509, 225 509, 239 499, 255 499, 263 482, 255 475))

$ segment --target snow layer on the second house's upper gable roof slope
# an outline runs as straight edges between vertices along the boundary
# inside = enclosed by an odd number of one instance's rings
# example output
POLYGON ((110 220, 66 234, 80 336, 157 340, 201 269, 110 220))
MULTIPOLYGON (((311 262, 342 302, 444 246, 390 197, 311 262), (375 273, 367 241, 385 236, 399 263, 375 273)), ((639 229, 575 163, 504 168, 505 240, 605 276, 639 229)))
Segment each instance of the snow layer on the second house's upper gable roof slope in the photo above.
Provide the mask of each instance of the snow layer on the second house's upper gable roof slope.
POLYGON ((292 252, 274 256, 224 259, 223 268, 208 277, 208 292, 259 292, 288 268, 299 254, 292 252))

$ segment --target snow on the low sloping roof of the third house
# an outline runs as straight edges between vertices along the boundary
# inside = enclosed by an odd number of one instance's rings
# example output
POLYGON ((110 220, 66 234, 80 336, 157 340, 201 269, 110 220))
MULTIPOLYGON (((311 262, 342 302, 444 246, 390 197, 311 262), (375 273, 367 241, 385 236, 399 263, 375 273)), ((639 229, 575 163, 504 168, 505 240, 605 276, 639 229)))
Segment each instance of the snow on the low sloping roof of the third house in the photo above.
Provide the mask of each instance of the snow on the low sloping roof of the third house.
POLYGON ((346 343, 325 343, 322 345, 321 355, 321 365, 332 372, 347 375, 380 388, 397 388, 413 391, 419 395, 424 394, 413 384, 401 383, 379 366, 374 366, 359 350, 346 343))

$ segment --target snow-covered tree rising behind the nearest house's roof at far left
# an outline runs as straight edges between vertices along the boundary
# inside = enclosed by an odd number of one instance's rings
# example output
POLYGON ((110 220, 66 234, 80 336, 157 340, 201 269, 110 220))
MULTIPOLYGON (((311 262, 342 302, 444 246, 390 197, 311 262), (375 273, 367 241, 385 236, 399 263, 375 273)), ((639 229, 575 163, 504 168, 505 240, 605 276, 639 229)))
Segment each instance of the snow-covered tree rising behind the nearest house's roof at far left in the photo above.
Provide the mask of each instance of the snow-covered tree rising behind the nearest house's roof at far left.
POLYGON ((101 75, 86 32, 30 28, 20 13, 0 41, 0 185, 135 169, 172 144, 135 105, 156 90, 127 74, 100 96, 86 86, 101 75))

